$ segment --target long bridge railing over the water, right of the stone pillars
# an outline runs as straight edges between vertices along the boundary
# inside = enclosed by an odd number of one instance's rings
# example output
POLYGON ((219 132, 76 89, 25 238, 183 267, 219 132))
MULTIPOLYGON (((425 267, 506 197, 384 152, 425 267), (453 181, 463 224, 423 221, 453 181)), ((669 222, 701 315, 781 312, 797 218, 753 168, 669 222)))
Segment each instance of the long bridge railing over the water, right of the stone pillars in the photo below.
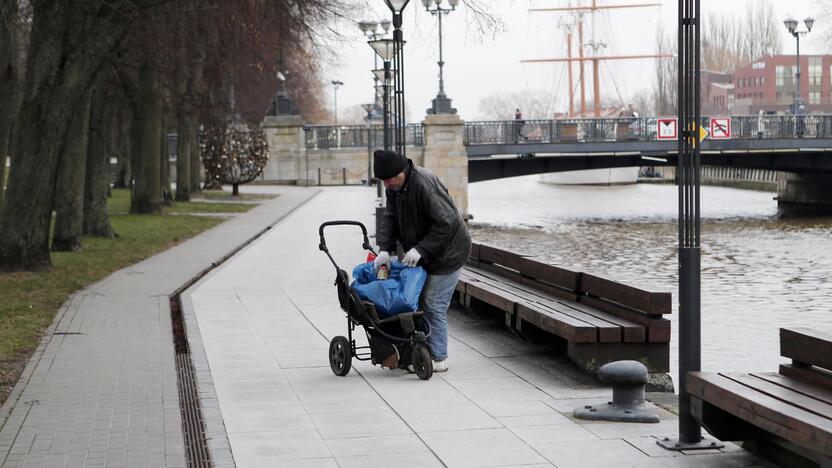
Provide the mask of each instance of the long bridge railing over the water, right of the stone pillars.
MULTIPOLYGON (((466 145, 656 141, 656 117, 466 122, 466 145)), ((710 117, 701 124, 709 128, 710 117)), ((832 138, 832 115, 731 117, 731 139, 832 138)))

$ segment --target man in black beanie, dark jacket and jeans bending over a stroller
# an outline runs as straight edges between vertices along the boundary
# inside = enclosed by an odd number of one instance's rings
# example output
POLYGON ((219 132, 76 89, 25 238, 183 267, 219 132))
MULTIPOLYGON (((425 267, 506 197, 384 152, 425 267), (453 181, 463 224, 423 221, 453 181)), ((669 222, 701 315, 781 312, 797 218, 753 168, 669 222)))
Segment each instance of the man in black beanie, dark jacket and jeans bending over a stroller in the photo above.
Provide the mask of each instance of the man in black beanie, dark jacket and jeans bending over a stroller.
POLYGON ((375 152, 373 172, 384 181, 387 207, 378 229, 375 268, 387 265, 401 244, 402 263, 421 266, 428 279, 420 300, 430 326, 433 371, 448 370, 448 306, 459 271, 468 260, 471 236, 448 189, 428 170, 395 151, 375 152))

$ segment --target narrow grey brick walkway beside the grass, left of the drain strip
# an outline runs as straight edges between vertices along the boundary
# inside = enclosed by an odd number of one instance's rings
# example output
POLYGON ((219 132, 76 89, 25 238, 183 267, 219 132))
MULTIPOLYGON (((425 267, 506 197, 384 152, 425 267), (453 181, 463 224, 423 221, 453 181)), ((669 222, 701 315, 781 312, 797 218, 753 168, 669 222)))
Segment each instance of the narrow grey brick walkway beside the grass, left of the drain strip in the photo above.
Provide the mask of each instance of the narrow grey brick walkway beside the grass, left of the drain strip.
POLYGON ((0 409, 0 465, 185 465, 168 296, 317 191, 276 199, 63 305, 0 409))

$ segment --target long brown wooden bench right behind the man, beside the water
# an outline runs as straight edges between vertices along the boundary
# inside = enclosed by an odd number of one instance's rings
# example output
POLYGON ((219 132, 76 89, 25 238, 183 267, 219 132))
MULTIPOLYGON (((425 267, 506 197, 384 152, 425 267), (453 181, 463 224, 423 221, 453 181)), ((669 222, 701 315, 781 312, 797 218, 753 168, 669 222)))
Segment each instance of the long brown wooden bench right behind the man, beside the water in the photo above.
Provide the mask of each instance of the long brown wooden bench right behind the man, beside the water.
POLYGON ((542 330, 566 342, 569 357, 594 371, 634 359, 667 372, 669 293, 651 292, 549 265, 484 244, 472 246, 457 292, 467 307, 502 311, 507 327, 542 330))

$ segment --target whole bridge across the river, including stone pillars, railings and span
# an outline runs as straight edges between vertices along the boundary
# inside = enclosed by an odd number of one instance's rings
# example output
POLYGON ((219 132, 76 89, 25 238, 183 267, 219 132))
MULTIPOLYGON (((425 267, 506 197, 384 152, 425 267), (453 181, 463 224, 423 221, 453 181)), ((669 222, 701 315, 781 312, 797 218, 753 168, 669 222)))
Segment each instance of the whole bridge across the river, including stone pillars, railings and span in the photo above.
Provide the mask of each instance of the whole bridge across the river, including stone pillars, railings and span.
MULTIPOLYGON (((703 128, 709 122, 710 117, 702 117, 703 128)), ((366 179, 370 154, 383 142, 381 125, 295 125, 306 155, 307 183, 323 183, 327 177, 335 183, 366 179), (308 173, 310 164, 317 174, 308 173)), ((267 122, 264 127, 268 133, 267 122)), ((467 173, 448 176, 466 176, 462 184, 467 186, 551 172, 675 166, 677 142, 660 140, 657 127, 656 117, 463 122, 456 116, 427 116, 408 125, 406 141, 409 157, 436 169, 434 164, 440 172, 448 154, 464 156, 464 162, 455 164, 467 166, 467 173)), ((706 138, 700 144, 703 165, 786 173, 778 194, 781 205, 820 200, 832 207, 832 115, 733 116, 730 139, 706 138)))

